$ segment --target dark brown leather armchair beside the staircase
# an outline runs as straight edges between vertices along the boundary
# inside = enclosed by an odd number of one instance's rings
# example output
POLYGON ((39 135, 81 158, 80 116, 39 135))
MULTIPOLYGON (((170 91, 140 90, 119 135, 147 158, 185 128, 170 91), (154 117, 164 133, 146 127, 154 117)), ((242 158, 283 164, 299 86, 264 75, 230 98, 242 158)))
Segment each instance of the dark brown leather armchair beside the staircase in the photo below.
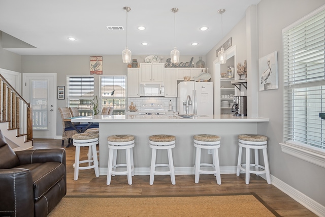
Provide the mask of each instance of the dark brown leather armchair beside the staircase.
POLYGON ((0 131, 0 216, 47 216, 66 193, 64 148, 14 152, 0 131))

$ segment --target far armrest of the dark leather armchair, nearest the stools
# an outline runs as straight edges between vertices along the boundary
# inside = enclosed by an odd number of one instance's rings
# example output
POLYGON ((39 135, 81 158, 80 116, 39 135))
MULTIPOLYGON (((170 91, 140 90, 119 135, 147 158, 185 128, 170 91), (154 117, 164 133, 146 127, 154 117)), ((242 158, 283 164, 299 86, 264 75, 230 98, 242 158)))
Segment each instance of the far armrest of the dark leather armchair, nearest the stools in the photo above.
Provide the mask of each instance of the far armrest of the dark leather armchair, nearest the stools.
POLYGON ((20 165, 54 161, 63 163, 66 166, 66 149, 64 148, 23 150, 15 153, 20 165))

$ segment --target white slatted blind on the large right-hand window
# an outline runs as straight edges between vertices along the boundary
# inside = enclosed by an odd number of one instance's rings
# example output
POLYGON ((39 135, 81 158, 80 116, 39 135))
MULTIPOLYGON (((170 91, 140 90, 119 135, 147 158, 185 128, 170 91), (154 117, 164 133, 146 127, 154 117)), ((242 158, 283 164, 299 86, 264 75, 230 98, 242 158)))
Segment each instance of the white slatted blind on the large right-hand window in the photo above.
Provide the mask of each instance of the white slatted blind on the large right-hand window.
POLYGON ((325 149, 325 10, 286 28, 283 36, 284 140, 325 149))

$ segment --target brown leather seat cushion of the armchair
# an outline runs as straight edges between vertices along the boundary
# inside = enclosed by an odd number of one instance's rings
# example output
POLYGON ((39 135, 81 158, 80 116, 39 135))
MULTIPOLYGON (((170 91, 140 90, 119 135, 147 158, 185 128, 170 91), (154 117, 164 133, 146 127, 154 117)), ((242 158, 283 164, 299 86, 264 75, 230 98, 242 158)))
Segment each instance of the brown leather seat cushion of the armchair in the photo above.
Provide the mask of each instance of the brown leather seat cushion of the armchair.
POLYGON ((25 164, 16 168, 25 168, 31 171, 35 201, 38 201, 66 174, 66 167, 59 162, 25 164))

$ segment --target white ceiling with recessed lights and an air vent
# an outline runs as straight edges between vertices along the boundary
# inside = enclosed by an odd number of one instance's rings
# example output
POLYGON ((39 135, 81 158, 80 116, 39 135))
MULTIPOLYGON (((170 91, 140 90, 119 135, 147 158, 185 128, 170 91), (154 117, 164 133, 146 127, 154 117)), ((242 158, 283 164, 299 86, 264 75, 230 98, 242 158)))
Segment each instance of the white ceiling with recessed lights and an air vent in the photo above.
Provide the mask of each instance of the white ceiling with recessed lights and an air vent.
MULTIPOLYGON (((181 55, 205 55, 245 16, 249 5, 260 0, 1 0, 0 31, 36 48, 9 43, 3 34, 3 48, 21 55, 110 55, 121 54, 126 31, 109 31, 106 26, 126 27, 127 45, 132 54, 164 54, 176 47, 181 55), (140 31, 138 26, 145 30, 140 31), (208 26, 205 32, 199 30, 208 26), (69 41, 68 37, 77 38, 69 41), (147 46, 141 45, 147 42, 147 46), (192 42, 198 42, 192 46, 192 42), (18 48, 14 48, 18 47, 18 48)), ((226 39, 225 39, 226 40, 226 39)))

